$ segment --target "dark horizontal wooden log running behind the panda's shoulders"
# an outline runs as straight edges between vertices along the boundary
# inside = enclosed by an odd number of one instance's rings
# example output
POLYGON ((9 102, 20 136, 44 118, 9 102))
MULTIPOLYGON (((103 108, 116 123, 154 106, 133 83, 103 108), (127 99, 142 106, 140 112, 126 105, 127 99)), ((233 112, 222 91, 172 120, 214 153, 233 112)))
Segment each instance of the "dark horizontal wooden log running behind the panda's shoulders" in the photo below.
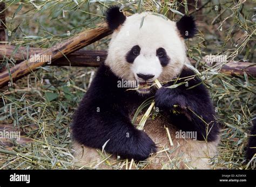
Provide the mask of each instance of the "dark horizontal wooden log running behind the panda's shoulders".
MULTIPOLYGON (((17 63, 21 60, 24 60, 26 56, 33 55, 35 53, 42 53, 45 49, 41 48, 29 48, 27 52, 25 47, 19 47, 16 54, 12 56, 12 51, 15 46, 5 46, 0 45, 0 61, 3 60, 4 56, 10 58, 12 57, 17 61, 17 63)), ((53 61, 49 66, 77 66, 77 67, 98 67, 100 63, 103 63, 106 59, 107 52, 106 51, 85 51, 79 50, 73 52, 66 57, 61 57, 56 61, 53 61)), ((196 61, 191 60, 193 65, 196 64, 196 61)), ((208 66, 211 66, 210 63, 207 63, 208 66)), ((223 66, 220 70, 221 73, 238 76, 243 75, 244 71, 253 77, 256 77, 256 63, 251 62, 228 62, 225 66, 223 66)))

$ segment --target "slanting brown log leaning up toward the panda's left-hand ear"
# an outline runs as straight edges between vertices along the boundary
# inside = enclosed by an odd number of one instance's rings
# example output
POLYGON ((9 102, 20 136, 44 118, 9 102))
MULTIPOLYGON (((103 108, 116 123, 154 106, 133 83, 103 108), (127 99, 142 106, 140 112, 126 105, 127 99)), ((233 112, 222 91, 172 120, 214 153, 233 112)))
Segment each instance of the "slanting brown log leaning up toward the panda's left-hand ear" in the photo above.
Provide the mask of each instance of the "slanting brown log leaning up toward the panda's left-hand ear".
MULTIPOLYGON (((64 55, 68 55, 72 52, 77 51, 80 48, 83 48, 87 45, 92 44, 95 41, 98 41, 106 35, 111 34, 112 31, 109 30, 106 24, 100 24, 96 28, 92 28, 89 31, 83 31, 79 34, 71 37, 70 39, 57 44, 49 49, 46 49, 42 53, 39 53, 40 56, 51 56, 51 61, 55 61, 64 55)), ((35 71, 40 66, 45 66, 47 64, 45 61, 39 60, 35 62, 31 59, 25 60, 16 66, 12 67, 9 71, 4 71, 0 74, 0 88, 9 82, 12 84, 13 81, 18 80, 19 78, 28 75, 32 71, 35 71)))

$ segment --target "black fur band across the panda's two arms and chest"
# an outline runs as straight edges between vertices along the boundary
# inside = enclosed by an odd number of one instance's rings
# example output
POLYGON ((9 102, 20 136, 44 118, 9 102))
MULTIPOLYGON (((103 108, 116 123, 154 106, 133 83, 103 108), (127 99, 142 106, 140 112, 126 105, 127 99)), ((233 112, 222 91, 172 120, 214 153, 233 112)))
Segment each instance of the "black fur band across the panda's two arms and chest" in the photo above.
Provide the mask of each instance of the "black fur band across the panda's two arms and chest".
MULTIPOLYGON (((186 76, 186 72, 183 75, 186 76)), ((118 154, 122 158, 145 160, 151 153, 156 152, 156 146, 145 132, 137 130, 131 124, 129 116, 146 98, 154 96, 154 92, 140 96, 136 91, 118 88, 118 80, 109 67, 104 64, 99 67, 73 117, 73 138, 82 145, 99 149, 102 149, 104 143, 109 140, 104 149, 106 152, 118 154)), ((172 108, 172 103, 178 102, 181 106, 196 109, 206 121, 214 120, 212 104, 203 85, 189 91, 181 88, 175 90, 177 91, 158 90, 155 95, 156 104, 167 112, 172 108)), ((181 114, 173 118, 174 125, 204 134, 205 126, 193 114, 192 121, 184 119, 186 117, 181 114)), ((217 132, 215 124, 207 137, 208 140, 215 139, 217 132)))

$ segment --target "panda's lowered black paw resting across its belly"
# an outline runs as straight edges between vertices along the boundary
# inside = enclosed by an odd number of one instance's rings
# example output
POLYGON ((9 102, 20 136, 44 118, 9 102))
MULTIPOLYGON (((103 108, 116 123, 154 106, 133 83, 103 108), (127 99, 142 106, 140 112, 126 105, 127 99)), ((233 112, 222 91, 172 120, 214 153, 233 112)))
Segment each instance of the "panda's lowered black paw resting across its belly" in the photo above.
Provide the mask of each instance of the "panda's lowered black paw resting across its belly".
POLYGON ((156 153, 157 148, 151 138, 143 131, 138 131, 136 137, 130 137, 125 145, 124 153, 118 154, 125 159, 133 159, 135 161, 146 160, 150 154, 156 153))

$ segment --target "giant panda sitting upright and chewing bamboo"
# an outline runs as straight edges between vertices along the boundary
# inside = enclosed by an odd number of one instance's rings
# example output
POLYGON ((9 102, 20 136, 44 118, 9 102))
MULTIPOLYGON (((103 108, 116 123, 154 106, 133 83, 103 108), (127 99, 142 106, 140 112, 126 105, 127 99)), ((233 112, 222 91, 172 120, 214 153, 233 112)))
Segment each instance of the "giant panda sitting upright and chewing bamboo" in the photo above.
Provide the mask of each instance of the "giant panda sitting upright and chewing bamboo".
POLYGON ((196 33, 193 17, 126 17, 113 6, 106 22, 113 31, 106 60, 71 124, 75 162, 98 169, 125 169, 127 161, 132 169, 210 169, 219 126, 205 85, 187 66, 184 40, 196 33), (160 89, 148 86, 156 79, 160 89), (119 88, 120 80, 136 81, 138 88, 119 88), (131 119, 151 97, 159 112, 138 130, 131 119), (177 132, 197 137, 177 138, 177 132))

